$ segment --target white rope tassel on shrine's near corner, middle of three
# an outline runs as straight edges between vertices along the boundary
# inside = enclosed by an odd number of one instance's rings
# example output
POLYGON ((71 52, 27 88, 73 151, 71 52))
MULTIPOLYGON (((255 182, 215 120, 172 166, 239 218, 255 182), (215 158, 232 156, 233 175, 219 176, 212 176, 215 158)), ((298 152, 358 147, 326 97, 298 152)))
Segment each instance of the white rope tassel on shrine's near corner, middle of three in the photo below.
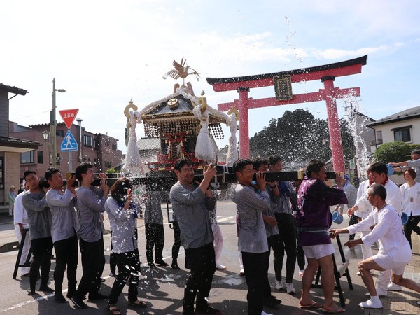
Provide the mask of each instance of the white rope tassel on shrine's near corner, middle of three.
POLYGON ((195 144, 195 158, 206 162, 216 162, 216 153, 213 150, 213 144, 209 136, 209 111, 201 112, 202 104, 193 109, 194 116, 200 119, 200 133, 197 136, 195 144), (205 118, 205 120, 204 120, 205 118))

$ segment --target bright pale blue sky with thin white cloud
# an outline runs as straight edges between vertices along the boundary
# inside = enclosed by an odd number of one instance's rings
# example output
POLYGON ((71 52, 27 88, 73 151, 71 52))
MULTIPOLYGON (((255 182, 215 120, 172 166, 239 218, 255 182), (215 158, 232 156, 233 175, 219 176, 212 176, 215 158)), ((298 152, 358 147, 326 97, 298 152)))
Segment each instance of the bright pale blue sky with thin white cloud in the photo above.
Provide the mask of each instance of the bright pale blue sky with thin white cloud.
MULTIPOLYGON (((410 0, 3 1, 0 83, 29 91, 10 99, 10 120, 29 126, 49 123, 55 78, 56 88, 66 90, 57 92, 57 121, 59 110, 79 109, 86 130, 120 139, 125 153, 125 106, 132 100, 143 109, 172 94, 181 79, 162 76, 174 59, 186 57, 201 73, 200 81, 188 80, 216 108, 238 94, 216 93, 205 78, 368 55, 362 73, 337 78, 335 87, 360 87, 358 110, 377 120, 420 106, 419 16, 420 6, 410 0)), ((321 81, 293 84, 295 94, 322 88, 321 81)), ((274 87, 251 89, 249 97, 274 97, 274 87)), ((337 101, 340 118, 346 106, 348 99, 337 101)), ((298 108, 326 119, 325 102, 251 109, 250 137, 298 108)), ((228 144, 224 130, 219 147, 228 144)), ((143 125, 137 137, 144 137, 143 125)))

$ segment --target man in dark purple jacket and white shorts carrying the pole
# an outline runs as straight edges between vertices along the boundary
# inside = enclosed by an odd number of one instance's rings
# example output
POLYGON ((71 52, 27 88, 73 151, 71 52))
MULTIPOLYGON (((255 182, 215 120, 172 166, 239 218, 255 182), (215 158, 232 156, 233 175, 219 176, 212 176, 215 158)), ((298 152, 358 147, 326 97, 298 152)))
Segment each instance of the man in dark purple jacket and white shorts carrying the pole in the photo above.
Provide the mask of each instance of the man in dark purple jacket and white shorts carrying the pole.
POLYGON ((327 313, 342 313, 345 309, 337 306, 332 299, 335 286, 332 254, 335 250, 328 229, 332 224, 330 206, 347 204, 346 195, 342 190, 343 177, 337 174, 335 179, 337 188, 328 187, 325 183, 327 179, 325 162, 321 160, 309 161, 305 175, 297 194, 296 217, 299 241, 308 260, 308 266, 302 277, 300 308, 322 307, 327 313), (322 305, 314 302, 310 296, 311 283, 318 267, 322 269, 321 286, 325 300, 322 305))

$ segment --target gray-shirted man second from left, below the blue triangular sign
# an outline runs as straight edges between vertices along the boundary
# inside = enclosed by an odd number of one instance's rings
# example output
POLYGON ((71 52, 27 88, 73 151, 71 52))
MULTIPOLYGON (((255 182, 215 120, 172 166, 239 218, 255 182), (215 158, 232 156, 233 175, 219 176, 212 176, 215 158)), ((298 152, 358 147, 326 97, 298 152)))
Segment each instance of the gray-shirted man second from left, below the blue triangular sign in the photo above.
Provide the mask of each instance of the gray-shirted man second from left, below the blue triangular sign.
POLYGON ((67 267, 69 290, 67 297, 71 298, 76 292, 76 270, 78 262, 78 219, 76 217, 76 190, 73 183, 76 176, 71 176, 66 183, 66 191, 62 190, 63 177, 59 169, 49 168, 45 172, 45 179, 51 186, 45 199, 52 214, 51 237, 55 249, 54 269, 54 300, 58 303, 66 302, 62 295, 64 272, 67 267))

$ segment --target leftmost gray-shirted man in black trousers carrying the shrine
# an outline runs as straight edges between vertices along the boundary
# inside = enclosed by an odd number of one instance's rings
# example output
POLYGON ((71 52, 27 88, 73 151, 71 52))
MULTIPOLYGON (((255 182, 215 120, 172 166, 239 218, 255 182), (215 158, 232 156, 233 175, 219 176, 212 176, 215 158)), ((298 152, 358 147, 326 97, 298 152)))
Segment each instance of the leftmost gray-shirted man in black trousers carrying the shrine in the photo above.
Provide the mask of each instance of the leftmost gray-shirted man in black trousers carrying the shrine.
POLYGON ((22 196, 22 204, 28 214, 29 237, 31 239, 32 254, 34 260, 29 271, 29 293, 35 294, 36 280, 41 267, 41 285, 39 290, 52 293, 54 290, 48 287, 48 278, 51 267, 51 212, 45 200, 46 188, 39 186, 39 177, 33 169, 27 169, 23 175, 29 191, 22 196), (45 191, 44 191, 45 190, 45 191))

